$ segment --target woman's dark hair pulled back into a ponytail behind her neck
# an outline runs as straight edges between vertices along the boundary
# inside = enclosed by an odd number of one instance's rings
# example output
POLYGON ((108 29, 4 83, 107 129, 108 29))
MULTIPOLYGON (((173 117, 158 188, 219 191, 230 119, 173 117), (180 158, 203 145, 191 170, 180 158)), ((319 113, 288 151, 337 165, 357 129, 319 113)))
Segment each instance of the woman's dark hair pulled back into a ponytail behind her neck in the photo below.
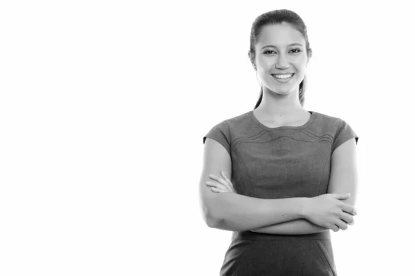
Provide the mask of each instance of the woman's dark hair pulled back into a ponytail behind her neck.
MULTIPOLYGON (((304 36, 304 39, 306 41, 306 52, 307 56, 311 57, 312 51, 310 48, 310 43, 308 43, 308 36, 307 36, 307 28, 306 24, 304 24, 304 21, 302 21, 301 17, 299 17, 298 14, 291 10, 272 10, 270 12, 266 12, 264 14, 259 15, 257 19, 255 19, 254 23, 252 23, 252 28, 250 32, 250 53, 251 53, 251 62, 254 63, 255 61, 255 44, 257 43, 259 34, 261 34, 262 27, 266 25, 272 25, 272 24, 281 24, 281 23, 289 23, 302 33, 304 36)), ((306 77, 304 76, 304 79, 301 83, 299 83, 299 103, 301 103, 301 106, 304 105, 304 92, 306 90, 306 77)), ((255 108, 259 106, 259 103, 262 101, 262 87, 261 91, 259 92, 259 99, 257 104, 255 105, 255 108)), ((254 109, 255 109, 254 108, 254 109)))

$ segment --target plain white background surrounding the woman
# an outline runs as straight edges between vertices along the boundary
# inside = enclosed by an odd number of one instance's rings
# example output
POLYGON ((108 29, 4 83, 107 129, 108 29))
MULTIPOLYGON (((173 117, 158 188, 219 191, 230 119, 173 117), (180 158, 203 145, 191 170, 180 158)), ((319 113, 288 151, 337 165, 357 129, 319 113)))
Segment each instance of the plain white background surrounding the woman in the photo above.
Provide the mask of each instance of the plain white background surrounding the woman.
POLYGON ((358 141, 338 275, 409 275, 413 15, 405 1, 2 1, 0 275, 219 275, 199 206, 203 136, 252 110, 252 22, 308 28, 306 110, 358 141))

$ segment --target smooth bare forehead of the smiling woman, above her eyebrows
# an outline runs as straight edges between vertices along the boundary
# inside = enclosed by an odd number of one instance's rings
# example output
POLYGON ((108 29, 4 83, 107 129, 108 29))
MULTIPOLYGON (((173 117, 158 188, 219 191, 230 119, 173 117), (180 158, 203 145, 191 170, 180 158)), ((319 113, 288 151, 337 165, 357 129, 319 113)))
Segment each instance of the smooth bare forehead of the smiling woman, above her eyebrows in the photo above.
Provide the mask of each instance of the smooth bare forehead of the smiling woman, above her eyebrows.
POLYGON ((288 23, 264 26, 257 39, 258 48, 266 45, 286 46, 291 43, 300 43, 305 46, 306 41, 302 33, 288 23))

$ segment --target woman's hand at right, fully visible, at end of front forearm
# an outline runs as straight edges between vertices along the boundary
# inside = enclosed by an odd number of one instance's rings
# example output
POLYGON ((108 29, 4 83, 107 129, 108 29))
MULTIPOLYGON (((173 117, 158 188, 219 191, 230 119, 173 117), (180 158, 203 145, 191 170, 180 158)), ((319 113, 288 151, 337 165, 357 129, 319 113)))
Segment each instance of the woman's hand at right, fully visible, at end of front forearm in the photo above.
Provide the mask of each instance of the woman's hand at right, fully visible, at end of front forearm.
POLYGON ((350 194, 324 194, 308 198, 304 206, 304 217, 308 221, 337 232, 346 230, 347 224, 353 223, 353 216, 357 215, 356 208, 342 202, 350 194))

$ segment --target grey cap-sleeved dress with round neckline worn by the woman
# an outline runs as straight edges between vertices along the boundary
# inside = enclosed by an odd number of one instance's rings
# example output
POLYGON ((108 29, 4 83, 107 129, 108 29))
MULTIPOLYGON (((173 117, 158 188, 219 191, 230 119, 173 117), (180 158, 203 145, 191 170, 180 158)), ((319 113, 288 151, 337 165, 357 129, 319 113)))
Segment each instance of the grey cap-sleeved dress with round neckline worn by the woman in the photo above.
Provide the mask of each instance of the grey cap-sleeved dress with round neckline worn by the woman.
MULTIPOLYGON (((253 110, 221 121, 203 137, 218 141, 232 160, 240 195, 262 199, 316 197, 329 188, 331 155, 359 137, 346 121, 308 111, 302 126, 269 128, 253 110)), ((234 231, 221 276, 337 275, 330 230, 308 235, 234 231), (286 273, 286 274, 284 274, 286 273)))

